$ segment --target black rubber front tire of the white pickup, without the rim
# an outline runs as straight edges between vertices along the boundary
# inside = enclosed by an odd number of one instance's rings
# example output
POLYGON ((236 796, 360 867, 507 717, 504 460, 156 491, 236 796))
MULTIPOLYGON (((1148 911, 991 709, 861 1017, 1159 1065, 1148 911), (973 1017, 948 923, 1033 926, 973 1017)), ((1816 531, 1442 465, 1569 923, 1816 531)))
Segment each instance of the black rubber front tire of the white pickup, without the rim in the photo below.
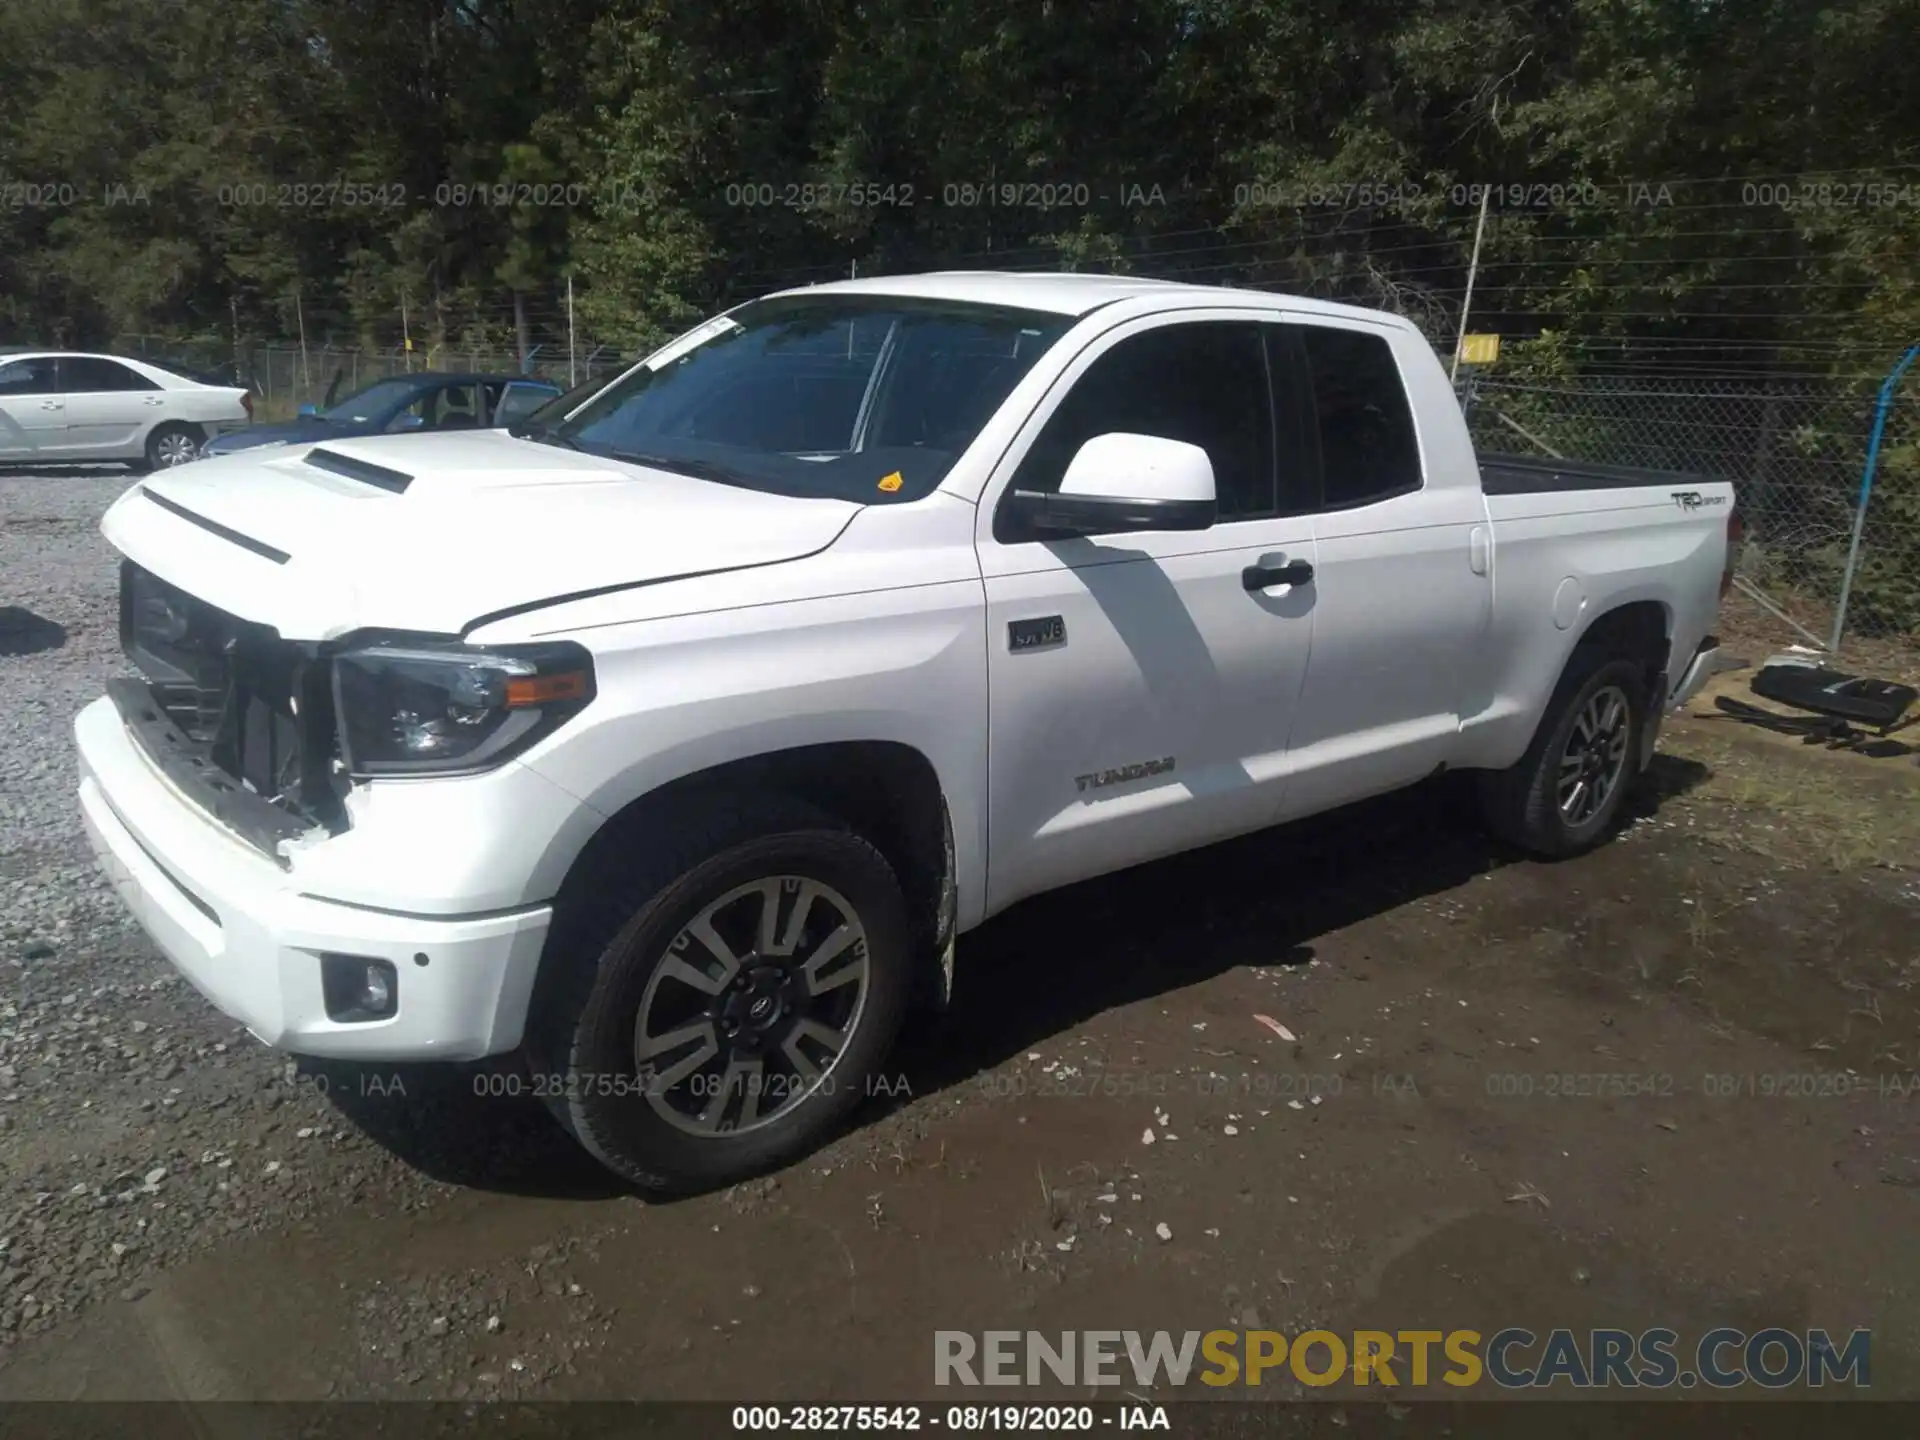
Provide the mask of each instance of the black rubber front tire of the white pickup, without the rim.
MULTIPOLYGON (((643 849, 628 847, 595 862, 586 883, 572 887, 572 899, 563 897, 524 1048, 536 1091, 593 1158, 645 1190, 693 1192, 804 1154, 870 1092, 906 1012, 914 937, 885 856, 814 806, 785 797, 710 801, 657 816, 649 831, 653 839, 643 849), (636 1035, 641 1002, 655 993, 649 985, 672 979, 657 981, 655 973, 685 925, 722 897, 776 876, 829 887, 856 912, 866 935, 864 995, 818 1085, 806 1089, 799 1081, 780 1096, 768 1089, 764 1094, 776 1104, 787 1094, 795 1098, 755 1129, 691 1135, 659 1108, 678 1106, 685 1094, 643 1077, 636 1035)), ((793 891, 783 891, 776 906, 789 904, 787 895, 793 891)), ((705 952, 682 954, 707 962, 705 952)), ((789 972, 803 968, 799 958, 787 956, 789 972)), ((764 973, 778 966, 753 962, 739 973, 749 968, 764 973)), ((722 1000, 724 995, 712 1004, 722 1000)), ((760 1039, 768 1062, 785 1064, 774 1054, 772 1035, 760 1039)), ((730 1068, 726 1054, 712 1064, 730 1068)), ((774 1079, 768 1075, 766 1083, 774 1079)), ((697 1071, 676 1087, 703 1081, 714 1083, 697 1071)), ((732 1083, 732 1069, 722 1083, 732 1083)), ((743 1104, 741 1096, 720 1100, 722 1112, 743 1104)))

